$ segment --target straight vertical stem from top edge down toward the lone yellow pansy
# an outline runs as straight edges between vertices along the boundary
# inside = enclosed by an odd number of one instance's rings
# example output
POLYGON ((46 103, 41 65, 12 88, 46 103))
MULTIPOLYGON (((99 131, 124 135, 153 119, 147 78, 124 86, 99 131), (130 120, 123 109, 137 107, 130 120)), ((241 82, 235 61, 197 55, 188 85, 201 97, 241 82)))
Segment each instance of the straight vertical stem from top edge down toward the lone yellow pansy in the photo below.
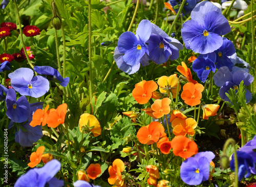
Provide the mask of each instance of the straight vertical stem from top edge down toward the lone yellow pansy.
POLYGON ((93 69, 92 69, 92 19, 91 19, 91 0, 88 1, 88 21, 89 21, 89 92, 90 102, 93 99, 93 69))

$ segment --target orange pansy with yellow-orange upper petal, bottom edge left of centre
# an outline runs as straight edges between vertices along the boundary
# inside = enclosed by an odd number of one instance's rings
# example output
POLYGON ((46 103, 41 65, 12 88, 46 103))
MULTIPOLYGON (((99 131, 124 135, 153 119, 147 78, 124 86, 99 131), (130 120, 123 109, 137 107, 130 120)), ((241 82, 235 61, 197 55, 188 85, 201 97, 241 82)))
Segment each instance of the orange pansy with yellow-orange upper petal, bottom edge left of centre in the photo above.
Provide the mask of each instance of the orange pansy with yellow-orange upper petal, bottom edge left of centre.
POLYGON ((124 183, 124 179, 122 179, 122 172, 124 170, 124 163, 120 159, 115 159, 113 161, 113 166, 109 167, 109 174, 110 177, 108 181, 110 184, 115 184, 116 186, 123 186, 125 187, 126 184, 124 183))

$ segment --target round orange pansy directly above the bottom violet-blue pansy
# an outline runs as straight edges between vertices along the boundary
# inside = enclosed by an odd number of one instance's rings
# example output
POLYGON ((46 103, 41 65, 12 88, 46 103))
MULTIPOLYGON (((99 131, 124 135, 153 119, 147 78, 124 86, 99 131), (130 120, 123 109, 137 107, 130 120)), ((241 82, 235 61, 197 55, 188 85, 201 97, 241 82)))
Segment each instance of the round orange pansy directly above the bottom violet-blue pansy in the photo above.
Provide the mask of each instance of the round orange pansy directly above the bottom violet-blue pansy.
POLYGON ((175 136, 171 142, 173 153, 182 158, 189 158, 198 153, 197 144, 185 136, 175 136))

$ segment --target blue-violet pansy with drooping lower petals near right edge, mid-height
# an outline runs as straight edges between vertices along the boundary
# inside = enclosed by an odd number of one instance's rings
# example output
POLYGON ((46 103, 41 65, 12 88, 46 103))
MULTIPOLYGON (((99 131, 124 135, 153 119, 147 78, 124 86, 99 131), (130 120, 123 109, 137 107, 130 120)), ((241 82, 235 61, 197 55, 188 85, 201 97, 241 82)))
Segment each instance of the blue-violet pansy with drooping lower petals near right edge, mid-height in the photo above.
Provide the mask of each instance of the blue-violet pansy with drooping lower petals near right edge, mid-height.
MULTIPOLYGON (((233 73, 233 72, 232 72, 233 73)), ((253 76, 245 71, 237 71, 232 74, 229 72, 228 67, 224 66, 218 69, 214 75, 214 82, 217 86, 221 87, 219 90, 219 95, 221 99, 230 102, 225 93, 228 93, 230 88, 238 89, 241 81, 244 81, 245 86, 249 86, 253 81, 253 76)), ((250 102, 252 96, 248 89, 245 93, 246 103, 250 102)))

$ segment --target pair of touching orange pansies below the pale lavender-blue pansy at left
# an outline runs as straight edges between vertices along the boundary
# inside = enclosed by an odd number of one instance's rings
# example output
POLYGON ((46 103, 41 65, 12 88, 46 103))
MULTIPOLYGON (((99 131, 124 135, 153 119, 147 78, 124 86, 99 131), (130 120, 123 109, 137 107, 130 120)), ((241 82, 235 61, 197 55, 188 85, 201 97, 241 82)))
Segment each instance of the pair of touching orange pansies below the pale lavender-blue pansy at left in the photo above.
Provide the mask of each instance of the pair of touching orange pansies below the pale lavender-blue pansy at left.
POLYGON ((65 122, 67 108, 68 105, 63 103, 56 110, 54 108, 48 110, 49 105, 44 110, 37 109, 32 116, 30 125, 35 127, 37 125, 45 126, 47 124, 48 127, 56 128, 59 124, 65 122))

